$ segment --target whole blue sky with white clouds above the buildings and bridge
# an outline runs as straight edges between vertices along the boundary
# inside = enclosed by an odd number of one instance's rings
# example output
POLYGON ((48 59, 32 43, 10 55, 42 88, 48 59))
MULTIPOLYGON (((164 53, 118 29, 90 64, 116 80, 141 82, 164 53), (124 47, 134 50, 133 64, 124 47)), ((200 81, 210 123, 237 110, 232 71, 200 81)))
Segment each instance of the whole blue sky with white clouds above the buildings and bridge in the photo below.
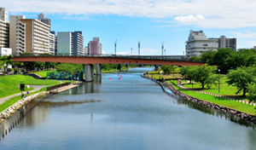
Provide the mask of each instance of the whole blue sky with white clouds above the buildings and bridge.
POLYGON ((207 38, 237 38, 238 49, 256 45, 255 0, 2 0, 9 15, 37 19, 44 13, 55 32, 82 31, 84 46, 99 37, 114 54, 183 55, 190 30, 207 38), (132 49, 132 50, 131 50, 132 49))

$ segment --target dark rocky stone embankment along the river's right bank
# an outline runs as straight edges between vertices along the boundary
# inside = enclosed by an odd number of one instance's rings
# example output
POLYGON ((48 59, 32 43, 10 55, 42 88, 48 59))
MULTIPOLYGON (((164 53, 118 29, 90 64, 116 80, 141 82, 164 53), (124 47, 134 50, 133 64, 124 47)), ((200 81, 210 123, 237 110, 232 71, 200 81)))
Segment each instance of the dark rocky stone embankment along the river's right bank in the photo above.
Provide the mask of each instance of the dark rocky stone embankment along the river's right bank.
MULTIPOLYGON (((142 76, 143 78, 148 78, 152 81, 154 81, 155 83, 158 83, 157 79, 155 78, 150 78, 148 76, 142 76)), ((256 124, 256 116, 249 114, 249 113, 243 113, 234 109, 231 109, 229 107, 223 107, 223 106, 219 106, 217 104, 208 102, 208 101, 203 101, 201 99, 195 98, 193 96, 190 95, 186 95, 183 94, 182 92, 180 92, 179 90, 175 89, 172 84, 169 84, 167 82, 164 82, 163 85, 165 85, 168 89, 170 89, 172 91, 173 94, 175 95, 179 95, 181 97, 183 97, 184 99, 191 101, 193 103, 196 103, 198 105, 201 105, 202 107, 207 107, 207 108, 211 108, 213 110, 217 110, 219 113, 224 113, 224 114, 230 114, 231 118, 241 118, 243 120, 245 120, 247 122, 247 124, 252 123, 253 129, 254 126, 256 124)))

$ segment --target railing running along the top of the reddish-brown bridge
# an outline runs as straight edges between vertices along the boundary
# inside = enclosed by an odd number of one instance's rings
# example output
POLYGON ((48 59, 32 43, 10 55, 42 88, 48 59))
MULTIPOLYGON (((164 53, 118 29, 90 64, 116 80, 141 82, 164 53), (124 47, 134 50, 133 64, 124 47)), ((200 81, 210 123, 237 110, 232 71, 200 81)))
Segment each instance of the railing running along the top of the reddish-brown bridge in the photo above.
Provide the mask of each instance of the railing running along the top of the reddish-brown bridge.
POLYGON ((72 53, 55 53, 55 54, 13 54, 14 57, 31 57, 31 56, 49 56, 49 57, 108 57, 108 58, 127 58, 143 60, 170 60, 170 61, 188 61, 185 55, 113 55, 113 54, 72 54, 72 53))

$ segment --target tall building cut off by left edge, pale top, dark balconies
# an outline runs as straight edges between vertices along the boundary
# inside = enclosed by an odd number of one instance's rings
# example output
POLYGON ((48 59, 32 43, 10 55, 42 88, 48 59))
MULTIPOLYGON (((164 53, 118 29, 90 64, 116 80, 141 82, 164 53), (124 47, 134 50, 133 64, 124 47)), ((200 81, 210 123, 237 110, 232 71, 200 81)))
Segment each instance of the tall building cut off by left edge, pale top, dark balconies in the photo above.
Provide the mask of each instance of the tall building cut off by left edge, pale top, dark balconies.
POLYGON ((0 8, 0 48, 9 48, 9 22, 5 8, 0 8))

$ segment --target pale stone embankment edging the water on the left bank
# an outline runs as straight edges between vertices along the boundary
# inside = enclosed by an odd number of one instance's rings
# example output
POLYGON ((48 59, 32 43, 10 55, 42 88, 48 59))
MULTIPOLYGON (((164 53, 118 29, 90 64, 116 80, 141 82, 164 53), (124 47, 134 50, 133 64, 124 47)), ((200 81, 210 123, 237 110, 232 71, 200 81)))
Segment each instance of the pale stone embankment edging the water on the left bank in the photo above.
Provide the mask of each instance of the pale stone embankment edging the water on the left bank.
MULTIPOLYGON (((76 82, 75 84, 69 84, 67 86, 58 88, 58 89, 56 89, 55 93, 60 93, 67 89, 72 89, 74 87, 79 86, 79 84, 81 84, 81 83, 76 82)), ((48 95, 49 93, 50 93, 50 91, 43 91, 43 92, 40 92, 40 93, 37 93, 34 95, 29 95, 26 98, 23 98, 22 100, 17 101, 15 104, 13 104, 12 106, 8 107, 7 109, 5 109, 3 112, 0 113, 0 124, 3 122, 3 120, 5 118, 9 118, 11 116, 11 114, 15 113, 17 110, 20 109, 20 107, 23 107, 29 101, 32 101, 33 99, 36 99, 36 98, 44 96, 44 95, 48 95)))

